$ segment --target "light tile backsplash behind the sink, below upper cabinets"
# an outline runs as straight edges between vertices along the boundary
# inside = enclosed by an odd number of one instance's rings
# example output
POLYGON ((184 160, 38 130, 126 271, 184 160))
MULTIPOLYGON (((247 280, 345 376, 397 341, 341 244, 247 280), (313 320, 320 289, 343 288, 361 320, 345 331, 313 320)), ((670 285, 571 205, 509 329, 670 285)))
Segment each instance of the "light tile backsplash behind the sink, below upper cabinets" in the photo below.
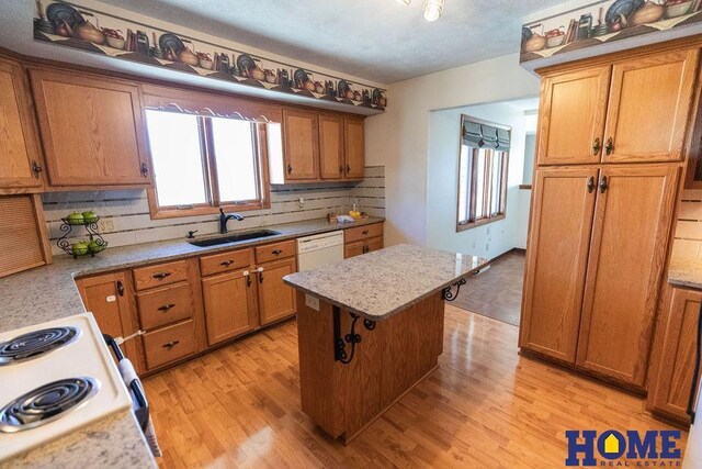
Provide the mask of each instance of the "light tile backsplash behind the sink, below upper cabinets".
MULTIPOLYGON (((101 232, 112 247, 174 239, 193 230, 199 231, 197 235, 214 234, 219 223, 217 215, 151 220, 146 190, 52 192, 43 194, 42 201, 55 255, 64 254, 56 246, 64 234, 59 230, 60 219, 75 211, 93 210, 104 221, 112 222, 112 230, 101 232)), ((270 209, 242 212, 242 222, 229 224, 231 230, 242 230, 322 219, 329 212, 349 210, 353 203, 372 216, 385 216, 383 166, 366 166, 365 178, 359 183, 273 186, 270 209)), ((76 228, 73 232, 80 233, 76 228)))

